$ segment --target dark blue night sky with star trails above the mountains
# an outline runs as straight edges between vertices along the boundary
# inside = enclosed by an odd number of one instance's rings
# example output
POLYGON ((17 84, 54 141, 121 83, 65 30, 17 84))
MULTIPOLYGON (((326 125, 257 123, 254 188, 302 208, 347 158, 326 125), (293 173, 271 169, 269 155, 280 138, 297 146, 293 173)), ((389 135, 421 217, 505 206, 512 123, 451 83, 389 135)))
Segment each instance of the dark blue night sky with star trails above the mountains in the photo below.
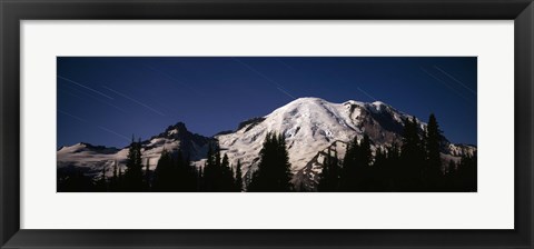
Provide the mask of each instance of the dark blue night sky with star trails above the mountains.
POLYGON ((212 136, 294 98, 380 100, 476 145, 475 57, 59 57, 58 147, 148 139, 178 121, 212 136))

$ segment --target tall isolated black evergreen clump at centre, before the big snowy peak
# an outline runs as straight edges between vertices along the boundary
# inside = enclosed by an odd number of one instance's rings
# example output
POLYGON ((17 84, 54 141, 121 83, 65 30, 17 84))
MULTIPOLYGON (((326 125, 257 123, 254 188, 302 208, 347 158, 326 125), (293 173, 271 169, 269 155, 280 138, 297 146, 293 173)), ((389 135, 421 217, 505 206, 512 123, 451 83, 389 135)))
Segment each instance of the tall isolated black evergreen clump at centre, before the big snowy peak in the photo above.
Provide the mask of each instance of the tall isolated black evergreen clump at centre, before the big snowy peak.
POLYGON ((287 192, 290 191, 291 173, 286 139, 283 135, 268 132, 261 151, 258 169, 253 173, 248 191, 287 192))

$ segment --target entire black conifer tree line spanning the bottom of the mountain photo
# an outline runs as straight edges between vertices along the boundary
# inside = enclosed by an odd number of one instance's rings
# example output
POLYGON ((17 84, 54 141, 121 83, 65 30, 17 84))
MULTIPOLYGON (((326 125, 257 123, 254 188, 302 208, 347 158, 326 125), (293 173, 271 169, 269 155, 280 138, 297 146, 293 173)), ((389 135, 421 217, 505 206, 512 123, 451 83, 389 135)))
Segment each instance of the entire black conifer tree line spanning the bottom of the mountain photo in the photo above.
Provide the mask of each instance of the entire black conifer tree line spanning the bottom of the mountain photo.
MULTIPOLYGON (((323 161, 316 191, 322 192, 414 192, 476 191, 476 152, 464 155, 459 161, 444 161, 441 148, 444 137, 436 117, 431 114, 421 131, 415 117, 404 121, 402 146, 376 147, 367 135, 348 142, 346 153, 328 149, 323 161)), ((91 179, 83 172, 59 173, 58 191, 111 192, 289 192, 306 191, 304 183, 291 183, 289 155, 284 135, 268 132, 258 155, 257 167, 241 178, 241 162, 230 159, 217 142, 208 146, 204 167, 197 168, 182 151, 164 149, 156 169, 149 159, 142 161, 141 140, 132 138, 126 170, 113 165, 113 173, 91 179)))

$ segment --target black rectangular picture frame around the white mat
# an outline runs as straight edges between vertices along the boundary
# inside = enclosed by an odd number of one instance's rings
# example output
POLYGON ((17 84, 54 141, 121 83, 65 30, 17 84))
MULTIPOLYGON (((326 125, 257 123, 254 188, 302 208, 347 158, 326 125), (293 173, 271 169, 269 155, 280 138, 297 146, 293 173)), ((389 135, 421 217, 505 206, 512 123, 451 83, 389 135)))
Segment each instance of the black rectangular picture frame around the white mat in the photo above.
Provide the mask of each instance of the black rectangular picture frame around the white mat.
MULTIPOLYGON (((533 248, 532 0, 0 0, 1 248, 533 248), (513 230, 26 230, 20 229, 21 20, 388 19, 514 20, 513 230)), ((498 48, 495 48, 498 49, 498 48)), ((506 132, 506 131, 503 131, 506 132)), ((491 219, 491 217, 488 217, 491 219)))

